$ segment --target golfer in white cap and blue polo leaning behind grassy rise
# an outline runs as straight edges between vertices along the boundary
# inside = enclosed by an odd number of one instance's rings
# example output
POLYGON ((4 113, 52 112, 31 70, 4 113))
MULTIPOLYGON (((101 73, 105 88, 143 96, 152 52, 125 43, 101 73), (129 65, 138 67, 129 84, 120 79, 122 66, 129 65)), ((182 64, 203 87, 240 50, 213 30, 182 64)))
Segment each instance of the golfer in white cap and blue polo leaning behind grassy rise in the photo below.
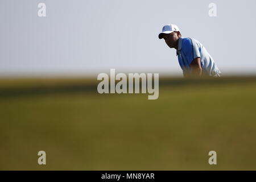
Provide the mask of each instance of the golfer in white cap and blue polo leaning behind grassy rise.
POLYGON ((175 24, 164 26, 158 38, 164 39, 168 47, 176 49, 176 55, 184 77, 221 77, 220 69, 218 69, 203 44, 195 39, 183 38, 175 24))

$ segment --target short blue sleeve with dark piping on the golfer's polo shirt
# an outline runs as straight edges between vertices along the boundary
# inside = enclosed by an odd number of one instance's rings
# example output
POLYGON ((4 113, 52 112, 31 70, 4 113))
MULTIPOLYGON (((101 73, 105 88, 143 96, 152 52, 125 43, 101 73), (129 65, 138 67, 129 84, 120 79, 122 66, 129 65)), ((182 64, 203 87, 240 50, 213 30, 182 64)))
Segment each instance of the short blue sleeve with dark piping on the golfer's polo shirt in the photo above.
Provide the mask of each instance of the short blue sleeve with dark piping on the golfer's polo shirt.
POLYGON ((200 57, 199 47, 190 38, 182 43, 182 50, 188 60, 188 64, 191 64, 194 59, 200 57))

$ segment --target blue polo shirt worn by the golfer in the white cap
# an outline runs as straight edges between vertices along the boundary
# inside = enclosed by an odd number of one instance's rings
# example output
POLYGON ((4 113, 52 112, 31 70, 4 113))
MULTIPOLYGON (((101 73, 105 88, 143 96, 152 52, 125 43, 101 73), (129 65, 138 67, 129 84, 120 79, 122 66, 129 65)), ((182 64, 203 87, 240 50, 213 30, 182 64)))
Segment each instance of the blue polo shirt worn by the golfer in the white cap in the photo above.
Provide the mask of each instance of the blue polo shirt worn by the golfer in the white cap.
POLYGON ((214 62, 212 56, 207 52, 207 49, 196 39, 191 38, 179 38, 178 40, 177 56, 180 64, 180 68, 185 73, 191 73, 191 62, 200 57, 201 67, 203 69, 203 75, 220 77, 221 72, 214 62))

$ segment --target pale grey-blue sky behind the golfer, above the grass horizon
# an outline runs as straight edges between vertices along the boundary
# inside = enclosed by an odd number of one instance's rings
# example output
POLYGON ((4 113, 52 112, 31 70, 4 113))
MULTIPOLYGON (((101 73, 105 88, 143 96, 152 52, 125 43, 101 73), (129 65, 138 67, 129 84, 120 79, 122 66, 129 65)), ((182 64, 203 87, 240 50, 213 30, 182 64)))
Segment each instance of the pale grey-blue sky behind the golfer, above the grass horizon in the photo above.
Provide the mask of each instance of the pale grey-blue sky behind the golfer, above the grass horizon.
POLYGON ((255 75, 255 8, 255 0, 0 0, 0 76, 110 68, 181 76, 176 50, 158 39, 170 23, 203 43, 223 75, 255 75), (38 16, 40 2, 46 17, 38 16))

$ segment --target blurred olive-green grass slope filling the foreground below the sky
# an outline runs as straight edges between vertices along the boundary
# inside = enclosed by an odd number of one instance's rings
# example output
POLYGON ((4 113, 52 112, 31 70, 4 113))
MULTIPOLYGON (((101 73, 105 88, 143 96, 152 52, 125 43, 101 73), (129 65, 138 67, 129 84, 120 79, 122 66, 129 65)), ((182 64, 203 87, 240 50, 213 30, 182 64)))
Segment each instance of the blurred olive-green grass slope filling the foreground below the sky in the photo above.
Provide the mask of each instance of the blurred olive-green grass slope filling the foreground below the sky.
POLYGON ((97 84, 2 78, 0 169, 256 169, 256 77, 161 78, 158 100, 97 84))

